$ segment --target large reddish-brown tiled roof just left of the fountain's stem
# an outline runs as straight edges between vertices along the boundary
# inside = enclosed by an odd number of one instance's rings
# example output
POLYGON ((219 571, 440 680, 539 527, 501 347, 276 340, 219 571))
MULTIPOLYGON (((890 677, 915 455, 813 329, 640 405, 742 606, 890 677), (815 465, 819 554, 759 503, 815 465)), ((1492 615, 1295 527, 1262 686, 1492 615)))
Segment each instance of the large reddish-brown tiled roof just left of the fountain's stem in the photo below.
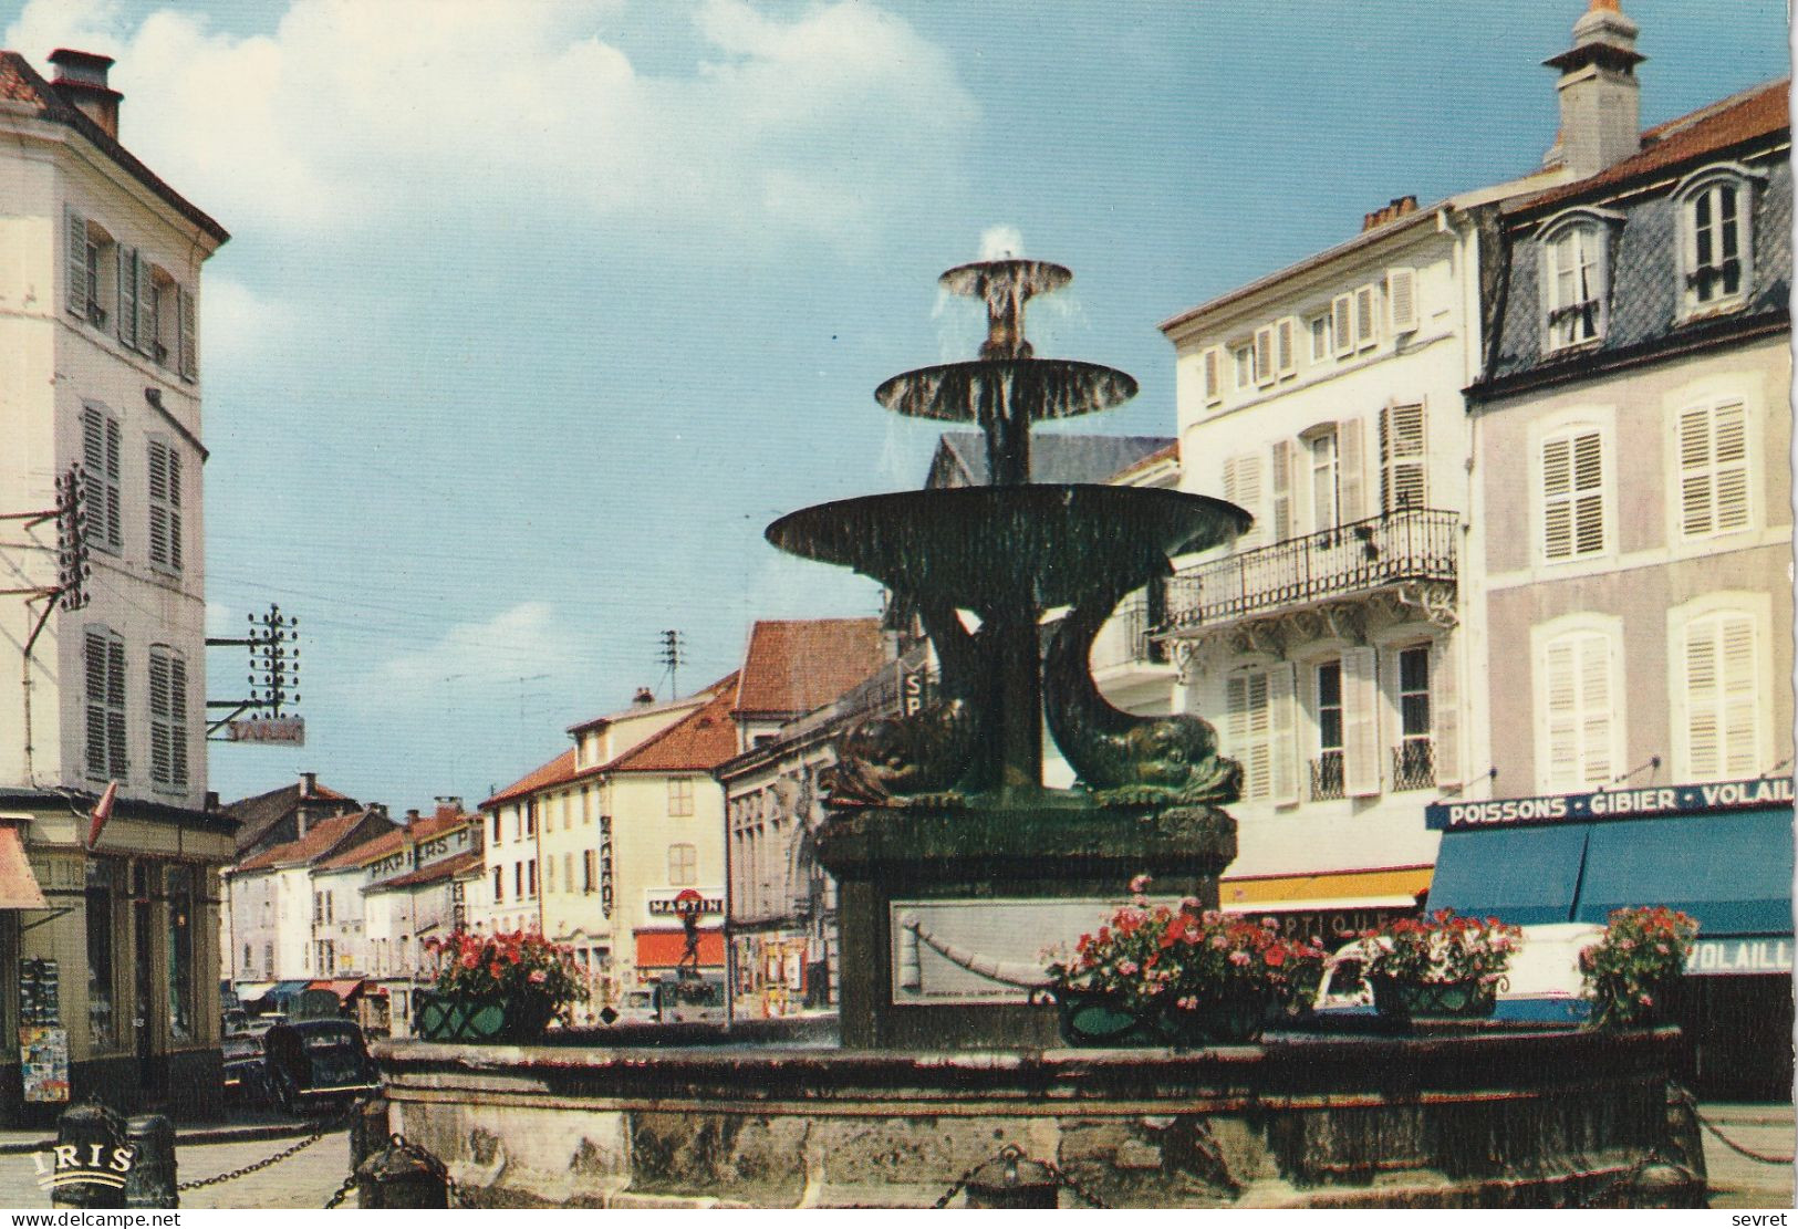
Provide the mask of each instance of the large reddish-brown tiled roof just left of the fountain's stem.
POLYGON ((757 620, 732 712, 798 717, 829 704, 885 661, 877 618, 757 620))

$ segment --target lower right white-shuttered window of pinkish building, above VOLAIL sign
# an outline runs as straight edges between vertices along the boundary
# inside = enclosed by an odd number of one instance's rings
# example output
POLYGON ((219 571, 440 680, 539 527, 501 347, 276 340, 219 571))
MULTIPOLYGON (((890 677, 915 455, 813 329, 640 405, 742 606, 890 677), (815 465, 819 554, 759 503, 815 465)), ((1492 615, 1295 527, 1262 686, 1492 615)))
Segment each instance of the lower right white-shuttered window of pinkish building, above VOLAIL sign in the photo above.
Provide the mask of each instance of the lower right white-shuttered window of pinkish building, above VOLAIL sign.
MULTIPOLYGON (((1760 686, 1755 618, 1715 611, 1685 623, 1674 652, 1685 674, 1679 780, 1758 776, 1760 686)), ((1678 712, 1678 710, 1676 710, 1678 712)))

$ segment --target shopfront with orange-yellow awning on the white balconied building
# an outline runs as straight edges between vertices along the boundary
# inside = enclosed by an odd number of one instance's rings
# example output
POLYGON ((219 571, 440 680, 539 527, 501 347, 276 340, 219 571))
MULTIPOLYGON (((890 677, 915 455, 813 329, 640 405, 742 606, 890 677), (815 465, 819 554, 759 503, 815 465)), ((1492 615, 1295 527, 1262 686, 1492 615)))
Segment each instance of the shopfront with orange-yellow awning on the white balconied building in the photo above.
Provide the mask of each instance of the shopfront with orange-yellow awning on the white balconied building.
POLYGON ((1217 907, 1273 918, 1282 934, 1336 949, 1383 922, 1415 916, 1429 891, 1429 873, 1428 866, 1395 866, 1224 879, 1217 884, 1217 907))

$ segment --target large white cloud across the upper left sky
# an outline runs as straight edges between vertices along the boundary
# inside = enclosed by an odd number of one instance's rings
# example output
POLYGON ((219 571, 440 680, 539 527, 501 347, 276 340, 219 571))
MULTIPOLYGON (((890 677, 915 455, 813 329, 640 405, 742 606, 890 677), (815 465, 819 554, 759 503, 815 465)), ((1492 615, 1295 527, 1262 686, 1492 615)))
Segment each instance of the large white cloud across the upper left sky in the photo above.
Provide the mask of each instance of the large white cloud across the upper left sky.
MULTIPOLYGON (((903 20, 703 0, 703 61, 644 75, 604 0, 293 0, 273 36, 29 0, 7 45, 119 57, 122 137, 227 226, 372 230, 421 208, 608 216, 854 243, 892 176, 953 176, 976 104, 903 20)), ((672 18, 662 18, 672 20, 672 18)))

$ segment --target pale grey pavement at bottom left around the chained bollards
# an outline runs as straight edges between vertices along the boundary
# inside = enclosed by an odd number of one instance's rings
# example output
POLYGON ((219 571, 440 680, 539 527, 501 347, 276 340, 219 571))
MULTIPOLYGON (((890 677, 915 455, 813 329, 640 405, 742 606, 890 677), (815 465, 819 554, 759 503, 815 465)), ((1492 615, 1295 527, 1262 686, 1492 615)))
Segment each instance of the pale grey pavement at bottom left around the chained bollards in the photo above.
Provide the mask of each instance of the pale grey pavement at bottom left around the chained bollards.
MULTIPOLYGON (((261 1161, 295 1139, 259 1139, 252 1143, 191 1145, 176 1152, 176 1179, 192 1182, 261 1161)), ((182 1191, 182 1207, 324 1207, 349 1175, 349 1132, 334 1130, 298 1155, 279 1161, 248 1177, 182 1191)), ((0 1207, 49 1207, 49 1191, 40 1191, 29 1155, 0 1157, 0 1207)), ((343 1207, 354 1207, 351 1195, 343 1207)))

